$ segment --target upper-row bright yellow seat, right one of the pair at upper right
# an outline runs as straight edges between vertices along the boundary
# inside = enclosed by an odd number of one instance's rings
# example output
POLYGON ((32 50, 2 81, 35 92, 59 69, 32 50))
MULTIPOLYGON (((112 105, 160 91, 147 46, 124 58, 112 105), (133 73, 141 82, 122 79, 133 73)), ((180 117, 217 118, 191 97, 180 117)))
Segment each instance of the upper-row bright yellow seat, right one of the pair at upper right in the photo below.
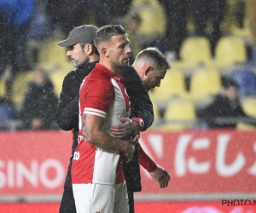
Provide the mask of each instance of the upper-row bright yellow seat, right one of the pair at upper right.
POLYGON ((215 50, 212 65, 224 69, 247 60, 246 47, 239 37, 221 37, 215 50))

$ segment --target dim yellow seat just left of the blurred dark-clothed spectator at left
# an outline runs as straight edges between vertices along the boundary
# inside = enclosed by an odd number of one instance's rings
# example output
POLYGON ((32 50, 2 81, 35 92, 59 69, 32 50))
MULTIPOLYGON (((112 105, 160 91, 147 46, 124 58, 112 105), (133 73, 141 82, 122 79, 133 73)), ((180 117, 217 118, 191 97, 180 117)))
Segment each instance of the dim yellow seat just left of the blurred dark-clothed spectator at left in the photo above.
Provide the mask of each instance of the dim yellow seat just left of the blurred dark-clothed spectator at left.
POLYGON ((20 104, 24 101, 26 93, 27 83, 32 81, 32 71, 20 72, 15 76, 12 83, 11 101, 16 107, 20 107, 20 104))

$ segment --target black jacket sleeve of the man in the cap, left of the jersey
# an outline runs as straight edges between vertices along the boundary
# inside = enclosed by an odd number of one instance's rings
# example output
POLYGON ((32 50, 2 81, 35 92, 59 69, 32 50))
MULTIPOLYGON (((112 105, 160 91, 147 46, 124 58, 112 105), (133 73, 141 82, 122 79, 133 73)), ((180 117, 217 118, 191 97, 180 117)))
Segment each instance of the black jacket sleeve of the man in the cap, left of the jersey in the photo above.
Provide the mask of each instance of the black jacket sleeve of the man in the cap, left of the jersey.
POLYGON ((56 111, 55 121, 61 130, 73 130, 79 124, 79 90, 70 88, 70 77, 64 78, 58 107, 56 111))

